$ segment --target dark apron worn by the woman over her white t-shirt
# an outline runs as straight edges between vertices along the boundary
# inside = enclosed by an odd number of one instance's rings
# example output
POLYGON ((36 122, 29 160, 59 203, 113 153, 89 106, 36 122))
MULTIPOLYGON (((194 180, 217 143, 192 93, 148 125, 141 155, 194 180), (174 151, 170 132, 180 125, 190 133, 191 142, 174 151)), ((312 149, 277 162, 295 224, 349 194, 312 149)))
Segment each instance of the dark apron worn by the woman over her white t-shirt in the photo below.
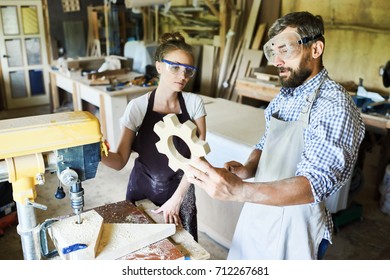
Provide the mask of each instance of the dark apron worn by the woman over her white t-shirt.
MULTIPOLYGON (((160 137, 153 131, 154 125, 163 120, 166 114, 153 111, 155 90, 149 97, 148 108, 142 121, 140 129, 134 139, 132 150, 139 156, 134 162, 127 186, 126 200, 135 202, 142 199, 149 199, 157 206, 163 205, 176 191, 184 172, 174 172, 168 166, 168 157, 157 151, 156 142, 160 137)), ((178 94, 181 114, 177 117, 181 123, 190 120, 184 99, 181 93, 178 94)), ((177 151, 186 158, 190 158, 191 151, 187 144, 180 138, 173 136, 173 143, 177 151)), ((180 219, 186 229, 197 241, 197 209, 195 204, 195 189, 191 185, 184 197, 180 207, 180 219)))

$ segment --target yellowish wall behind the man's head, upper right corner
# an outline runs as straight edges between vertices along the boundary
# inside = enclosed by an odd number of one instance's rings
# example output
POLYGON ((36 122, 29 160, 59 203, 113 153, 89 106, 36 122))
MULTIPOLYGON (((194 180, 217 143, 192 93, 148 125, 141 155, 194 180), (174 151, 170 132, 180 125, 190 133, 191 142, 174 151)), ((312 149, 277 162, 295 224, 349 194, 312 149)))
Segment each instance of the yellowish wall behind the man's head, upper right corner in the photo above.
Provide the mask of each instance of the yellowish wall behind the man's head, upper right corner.
POLYGON ((282 15, 292 11, 319 14, 325 22, 324 64, 339 82, 363 85, 389 96, 379 68, 390 60, 390 1, 282 1, 282 15))

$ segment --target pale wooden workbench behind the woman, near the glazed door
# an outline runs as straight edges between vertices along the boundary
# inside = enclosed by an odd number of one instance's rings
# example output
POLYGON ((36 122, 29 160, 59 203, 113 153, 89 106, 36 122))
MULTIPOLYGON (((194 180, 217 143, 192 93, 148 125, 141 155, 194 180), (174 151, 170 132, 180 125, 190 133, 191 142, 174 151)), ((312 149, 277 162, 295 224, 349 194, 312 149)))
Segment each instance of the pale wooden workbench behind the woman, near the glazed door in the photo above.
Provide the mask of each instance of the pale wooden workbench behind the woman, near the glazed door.
MULTIPOLYGON (((129 72, 118 76, 122 81, 131 81, 142 74, 129 72)), ((107 91, 106 85, 91 85, 91 80, 82 76, 80 71, 62 73, 58 70, 50 71, 51 97, 53 111, 60 107, 58 88, 72 95, 73 110, 83 110, 82 102, 86 101, 99 108, 99 120, 103 137, 110 143, 110 148, 117 148, 120 136, 119 119, 124 113, 128 102, 151 91, 156 86, 128 86, 116 91, 107 91)))

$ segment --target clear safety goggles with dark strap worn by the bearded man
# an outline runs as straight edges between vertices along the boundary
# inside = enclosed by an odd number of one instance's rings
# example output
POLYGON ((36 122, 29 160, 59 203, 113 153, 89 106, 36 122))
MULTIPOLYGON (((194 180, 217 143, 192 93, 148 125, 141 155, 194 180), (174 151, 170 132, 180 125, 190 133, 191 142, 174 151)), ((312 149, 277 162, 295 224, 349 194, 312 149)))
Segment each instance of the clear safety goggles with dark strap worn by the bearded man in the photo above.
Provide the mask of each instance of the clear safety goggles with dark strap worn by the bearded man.
POLYGON ((274 63, 276 57, 281 60, 294 59, 301 54, 304 44, 320 37, 322 37, 322 34, 301 38, 296 32, 282 33, 275 36, 264 45, 264 55, 270 63, 274 63))

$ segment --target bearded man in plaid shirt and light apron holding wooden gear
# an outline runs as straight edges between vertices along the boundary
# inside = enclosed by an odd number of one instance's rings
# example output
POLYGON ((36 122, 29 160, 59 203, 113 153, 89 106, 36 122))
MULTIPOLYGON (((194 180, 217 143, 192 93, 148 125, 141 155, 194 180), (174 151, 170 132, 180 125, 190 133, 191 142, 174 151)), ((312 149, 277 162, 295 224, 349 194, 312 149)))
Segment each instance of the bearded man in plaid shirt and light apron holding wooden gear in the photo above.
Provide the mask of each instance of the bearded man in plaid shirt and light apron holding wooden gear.
POLYGON ((244 164, 198 158, 185 172, 211 197, 245 202, 228 259, 322 259, 333 232, 324 201, 351 177, 364 124, 323 66, 321 16, 287 14, 268 35, 264 54, 282 88, 265 110, 264 135, 244 164))

